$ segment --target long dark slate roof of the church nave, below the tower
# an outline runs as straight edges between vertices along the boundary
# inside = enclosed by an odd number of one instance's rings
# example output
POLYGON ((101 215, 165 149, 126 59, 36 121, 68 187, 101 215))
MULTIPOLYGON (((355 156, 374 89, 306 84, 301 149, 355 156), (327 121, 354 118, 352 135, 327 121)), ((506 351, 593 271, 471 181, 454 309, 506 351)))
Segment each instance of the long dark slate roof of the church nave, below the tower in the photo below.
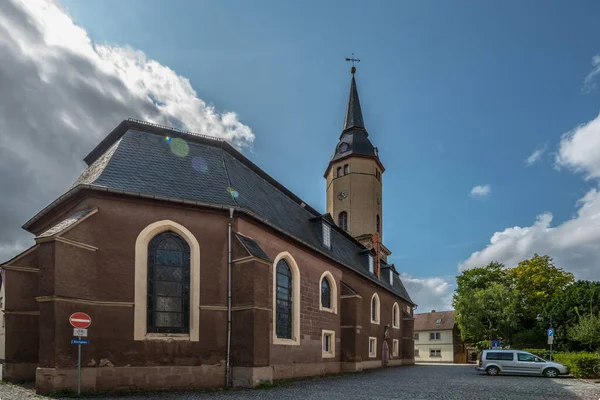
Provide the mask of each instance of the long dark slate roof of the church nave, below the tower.
MULTIPOLYGON (((324 218, 222 140, 127 120, 85 161, 89 167, 72 191, 86 187, 179 203, 234 207, 414 304, 399 276, 391 286, 388 280, 369 273, 365 247, 335 224, 331 224, 332 247, 326 249, 321 224, 331 223, 331 217, 324 218)), ((68 195, 40 211, 24 228, 68 195)))

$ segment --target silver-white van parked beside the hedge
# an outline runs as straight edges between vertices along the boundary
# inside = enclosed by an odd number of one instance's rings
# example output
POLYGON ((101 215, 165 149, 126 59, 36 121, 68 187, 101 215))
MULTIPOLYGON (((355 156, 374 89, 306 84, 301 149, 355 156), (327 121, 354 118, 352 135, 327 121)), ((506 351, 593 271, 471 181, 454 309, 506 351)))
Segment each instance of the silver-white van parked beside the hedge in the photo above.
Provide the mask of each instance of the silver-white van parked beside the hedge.
POLYGON ((502 373, 556 378, 558 375, 569 374, 567 366, 521 350, 484 350, 479 354, 477 370, 492 376, 502 373))

